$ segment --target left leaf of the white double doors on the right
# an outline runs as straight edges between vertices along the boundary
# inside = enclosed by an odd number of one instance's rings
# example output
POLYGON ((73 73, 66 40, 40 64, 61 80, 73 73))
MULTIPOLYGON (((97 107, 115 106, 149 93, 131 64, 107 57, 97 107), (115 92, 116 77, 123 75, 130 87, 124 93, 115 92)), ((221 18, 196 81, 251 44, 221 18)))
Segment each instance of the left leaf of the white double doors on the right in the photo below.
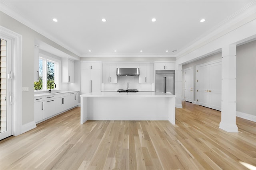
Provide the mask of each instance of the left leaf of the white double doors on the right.
POLYGON ((197 71, 198 105, 209 107, 209 66, 200 66, 197 71))

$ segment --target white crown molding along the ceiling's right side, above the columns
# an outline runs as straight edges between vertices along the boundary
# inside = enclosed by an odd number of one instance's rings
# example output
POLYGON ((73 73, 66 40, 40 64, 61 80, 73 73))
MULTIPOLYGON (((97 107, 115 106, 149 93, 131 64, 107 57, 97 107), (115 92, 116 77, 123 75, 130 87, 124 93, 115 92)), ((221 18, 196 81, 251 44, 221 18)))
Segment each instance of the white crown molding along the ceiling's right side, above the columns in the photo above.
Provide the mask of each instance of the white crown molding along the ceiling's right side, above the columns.
POLYGON ((184 48, 179 50, 176 55, 176 60, 183 57, 184 55, 191 53, 192 51, 206 45, 207 43, 218 39, 219 37, 233 31, 234 29, 256 19, 256 1, 250 2, 247 6, 240 9, 232 16, 216 25, 206 33, 202 34, 200 37, 194 41, 188 43, 184 48))

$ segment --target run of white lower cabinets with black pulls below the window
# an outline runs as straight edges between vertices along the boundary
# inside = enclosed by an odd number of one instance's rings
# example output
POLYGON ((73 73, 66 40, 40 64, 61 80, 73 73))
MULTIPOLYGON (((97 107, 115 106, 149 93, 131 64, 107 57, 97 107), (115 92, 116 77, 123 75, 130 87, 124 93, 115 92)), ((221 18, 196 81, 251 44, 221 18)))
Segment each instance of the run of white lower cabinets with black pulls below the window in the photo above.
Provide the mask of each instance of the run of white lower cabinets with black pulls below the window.
POLYGON ((34 121, 39 123, 54 115, 78 106, 79 92, 34 98, 34 121))

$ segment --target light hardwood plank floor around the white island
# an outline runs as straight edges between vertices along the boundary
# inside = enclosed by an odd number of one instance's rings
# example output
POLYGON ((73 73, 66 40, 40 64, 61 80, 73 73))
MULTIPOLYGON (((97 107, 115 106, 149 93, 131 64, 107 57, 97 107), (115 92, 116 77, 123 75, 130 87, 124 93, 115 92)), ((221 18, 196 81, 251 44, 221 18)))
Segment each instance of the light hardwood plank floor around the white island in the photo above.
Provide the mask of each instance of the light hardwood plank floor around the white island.
POLYGON ((183 102, 168 121, 87 121, 80 107, 0 141, 1 170, 192 169, 256 166, 256 123, 237 118, 239 133, 219 129, 220 111, 183 102))

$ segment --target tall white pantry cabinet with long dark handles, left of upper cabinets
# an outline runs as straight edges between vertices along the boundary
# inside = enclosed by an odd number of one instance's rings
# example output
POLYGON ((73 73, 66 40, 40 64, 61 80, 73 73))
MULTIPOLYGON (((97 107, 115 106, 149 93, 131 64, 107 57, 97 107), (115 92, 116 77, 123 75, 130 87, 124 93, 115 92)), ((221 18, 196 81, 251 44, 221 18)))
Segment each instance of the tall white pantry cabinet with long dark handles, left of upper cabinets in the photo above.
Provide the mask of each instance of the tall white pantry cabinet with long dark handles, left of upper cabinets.
POLYGON ((100 92, 101 62, 81 62, 81 94, 100 92))

